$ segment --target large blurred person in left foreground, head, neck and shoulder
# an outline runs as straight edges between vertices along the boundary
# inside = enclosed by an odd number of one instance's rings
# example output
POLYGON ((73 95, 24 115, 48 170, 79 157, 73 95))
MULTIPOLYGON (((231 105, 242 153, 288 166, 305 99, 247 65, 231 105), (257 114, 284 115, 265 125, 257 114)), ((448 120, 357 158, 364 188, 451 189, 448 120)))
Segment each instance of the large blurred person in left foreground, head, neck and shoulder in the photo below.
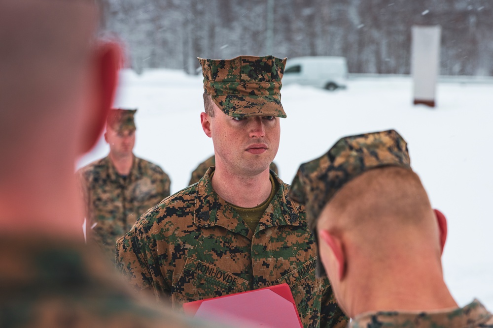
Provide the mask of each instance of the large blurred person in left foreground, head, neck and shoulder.
POLYGON ((0 1, 2 327, 184 327, 83 243, 74 161, 102 133, 120 58, 97 22, 94 0, 0 1))

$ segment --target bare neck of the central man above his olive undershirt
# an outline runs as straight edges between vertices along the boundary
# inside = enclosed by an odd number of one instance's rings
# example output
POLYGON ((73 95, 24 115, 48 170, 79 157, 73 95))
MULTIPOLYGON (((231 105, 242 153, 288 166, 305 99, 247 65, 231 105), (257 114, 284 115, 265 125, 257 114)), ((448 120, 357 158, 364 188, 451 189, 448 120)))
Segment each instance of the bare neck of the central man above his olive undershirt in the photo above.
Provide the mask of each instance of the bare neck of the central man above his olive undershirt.
MULTIPOLYGON (((217 162, 216 162, 217 164, 217 162)), ((226 202, 243 208, 253 208, 269 198, 272 183, 269 169, 255 176, 238 176, 216 166, 212 188, 226 202)))

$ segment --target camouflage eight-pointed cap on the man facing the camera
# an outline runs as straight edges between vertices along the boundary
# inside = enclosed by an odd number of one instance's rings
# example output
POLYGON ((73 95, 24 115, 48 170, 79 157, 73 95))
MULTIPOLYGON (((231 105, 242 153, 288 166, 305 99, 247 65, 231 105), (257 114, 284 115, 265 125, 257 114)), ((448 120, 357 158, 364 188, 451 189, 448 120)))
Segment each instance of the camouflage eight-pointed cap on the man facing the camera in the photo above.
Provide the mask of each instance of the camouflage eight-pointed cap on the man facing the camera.
POLYGON ((282 75, 287 58, 239 56, 228 60, 198 58, 204 90, 232 117, 286 117, 281 104, 282 75))

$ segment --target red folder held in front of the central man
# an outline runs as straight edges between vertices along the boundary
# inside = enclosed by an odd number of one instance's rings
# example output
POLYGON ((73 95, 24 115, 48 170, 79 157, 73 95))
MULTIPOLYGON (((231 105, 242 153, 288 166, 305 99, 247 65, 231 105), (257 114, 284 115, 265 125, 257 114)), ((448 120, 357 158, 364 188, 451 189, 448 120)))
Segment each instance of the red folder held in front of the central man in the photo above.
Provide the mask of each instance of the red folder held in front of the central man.
POLYGON ((303 328, 287 284, 188 302, 183 310, 230 327, 303 328))

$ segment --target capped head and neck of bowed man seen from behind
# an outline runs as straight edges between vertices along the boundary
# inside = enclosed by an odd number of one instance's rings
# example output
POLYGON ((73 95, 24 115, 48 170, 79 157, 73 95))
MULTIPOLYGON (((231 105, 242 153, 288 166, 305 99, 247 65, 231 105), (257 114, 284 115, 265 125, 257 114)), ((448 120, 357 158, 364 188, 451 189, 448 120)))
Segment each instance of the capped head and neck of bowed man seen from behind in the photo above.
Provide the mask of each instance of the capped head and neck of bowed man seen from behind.
POLYGON ((291 197, 306 205, 318 275, 328 274, 348 316, 457 307, 442 275, 445 217, 396 131, 340 139, 301 165, 291 197))

